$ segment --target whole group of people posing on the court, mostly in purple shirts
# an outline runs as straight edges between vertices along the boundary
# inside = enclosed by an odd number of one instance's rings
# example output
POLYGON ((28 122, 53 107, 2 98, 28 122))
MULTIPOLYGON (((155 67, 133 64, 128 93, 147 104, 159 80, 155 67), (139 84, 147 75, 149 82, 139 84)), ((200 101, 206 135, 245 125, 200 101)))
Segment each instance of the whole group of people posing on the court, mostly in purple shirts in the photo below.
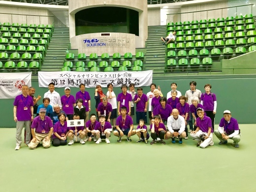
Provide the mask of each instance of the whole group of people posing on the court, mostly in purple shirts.
POLYGON ((182 144, 182 139, 188 139, 190 132, 191 137, 198 141, 197 146, 201 148, 214 144, 214 132, 220 140, 219 144, 226 144, 230 138, 234 141, 234 147, 239 147, 240 129, 230 111, 224 111, 218 130, 214 130, 217 99, 211 92, 210 84, 204 86, 205 93, 202 94, 196 89, 196 82, 192 81, 190 89, 182 96, 181 92, 177 91, 177 84, 172 83, 172 90, 166 97, 162 95, 160 86, 157 88, 154 83, 150 85, 151 91, 146 95, 142 87, 138 87, 136 93, 134 84, 129 85, 129 90, 127 85, 122 85, 122 93, 117 96, 113 91, 113 84, 108 84, 107 88, 105 95, 101 86, 96 86, 96 114, 90 114, 91 97, 85 91, 84 84, 79 85, 80 91, 74 97, 70 94, 69 87, 64 88, 64 96, 60 96, 54 90, 54 84, 50 83, 49 91, 44 94, 41 105, 37 105, 41 97, 34 96, 35 89, 23 85, 22 94, 17 96, 13 103, 14 121, 17 122, 15 150, 20 149, 23 126, 26 132, 25 142, 30 149, 35 149, 40 142, 43 147, 48 148, 51 140, 53 146, 72 145, 75 141, 85 144, 92 139, 96 144, 99 144, 101 139, 110 143, 111 132, 118 137, 118 142, 121 142, 124 135, 127 141, 131 141, 130 137, 136 134, 138 143, 147 144, 151 136, 151 145, 156 142, 165 144, 164 139, 168 138, 172 143, 176 143, 178 139, 182 144), (36 114, 35 118, 33 114, 36 114), (146 126, 147 114, 150 129, 146 126), (136 129, 133 129, 134 115, 138 125, 136 129), (67 127, 67 120, 73 119, 84 120, 85 126, 67 127))

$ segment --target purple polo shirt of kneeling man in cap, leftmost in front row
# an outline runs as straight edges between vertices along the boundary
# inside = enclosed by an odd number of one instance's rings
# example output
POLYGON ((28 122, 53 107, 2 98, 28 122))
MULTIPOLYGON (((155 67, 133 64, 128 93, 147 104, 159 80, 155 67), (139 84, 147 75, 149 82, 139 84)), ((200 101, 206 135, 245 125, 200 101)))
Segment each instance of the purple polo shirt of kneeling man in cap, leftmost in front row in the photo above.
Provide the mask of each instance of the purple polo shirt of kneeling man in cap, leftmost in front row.
POLYGON ((45 116, 44 120, 41 120, 40 116, 37 116, 32 121, 31 128, 35 128, 35 132, 39 134, 42 133, 42 130, 45 130, 45 133, 49 133, 50 128, 53 127, 53 122, 50 117, 45 116))

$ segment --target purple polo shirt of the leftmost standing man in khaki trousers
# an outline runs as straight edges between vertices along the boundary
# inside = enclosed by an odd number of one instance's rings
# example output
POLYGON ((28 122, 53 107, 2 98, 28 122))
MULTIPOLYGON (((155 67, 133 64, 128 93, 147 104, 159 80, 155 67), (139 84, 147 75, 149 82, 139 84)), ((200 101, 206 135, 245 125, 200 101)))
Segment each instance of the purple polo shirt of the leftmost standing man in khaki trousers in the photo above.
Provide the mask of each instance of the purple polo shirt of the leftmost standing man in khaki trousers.
POLYGON ((34 105, 33 98, 31 96, 25 97, 22 94, 16 96, 13 105, 17 106, 16 117, 18 121, 31 121, 32 114, 30 107, 34 105))

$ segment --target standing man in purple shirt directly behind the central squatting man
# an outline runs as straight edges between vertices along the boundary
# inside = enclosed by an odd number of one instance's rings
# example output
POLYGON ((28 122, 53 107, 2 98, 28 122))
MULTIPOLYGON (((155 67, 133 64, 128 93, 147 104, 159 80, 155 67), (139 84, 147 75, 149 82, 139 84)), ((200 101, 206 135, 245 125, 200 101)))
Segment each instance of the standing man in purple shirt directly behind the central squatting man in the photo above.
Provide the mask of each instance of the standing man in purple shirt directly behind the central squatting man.
POLYGON ((132 100, 132 97, 130 94, 127 93, 127 85, 122 85, 121 86, 122 89, 122 93, 118 94, 117 96, 117 101, 118 101, 118 105, 117 105, 117 111, 118 111, 118 115, 121 115, 121 107, 125 106, 127 108, 127 114, 130 115, 130 102, 132 100))

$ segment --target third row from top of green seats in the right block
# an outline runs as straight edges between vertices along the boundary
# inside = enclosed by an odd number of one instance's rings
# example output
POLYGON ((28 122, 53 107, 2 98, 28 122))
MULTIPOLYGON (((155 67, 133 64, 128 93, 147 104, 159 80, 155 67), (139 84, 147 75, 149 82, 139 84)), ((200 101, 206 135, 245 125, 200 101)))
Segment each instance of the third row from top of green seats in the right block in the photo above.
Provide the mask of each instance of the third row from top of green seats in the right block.
POLYGON ((222 28, 215 28, 214 31, 212 29, 205 29, 204 31, 202 30, 195 30, 194 32, 192 31, 187 31, 185 32, 176 32, 176 36, 192 36, 192 35, 197 35, 197 34, 217 34, 217 33, 223 33, 223 32, 242 32, 242 31, 250 31, 250 30, 255 30, 255 25, 254 24, 250 24, 247 25, 246 28, 244 28, 243 26, 237 26, 234 28, 232 27, 225 27, 224 30, 222 30, 222 28))

